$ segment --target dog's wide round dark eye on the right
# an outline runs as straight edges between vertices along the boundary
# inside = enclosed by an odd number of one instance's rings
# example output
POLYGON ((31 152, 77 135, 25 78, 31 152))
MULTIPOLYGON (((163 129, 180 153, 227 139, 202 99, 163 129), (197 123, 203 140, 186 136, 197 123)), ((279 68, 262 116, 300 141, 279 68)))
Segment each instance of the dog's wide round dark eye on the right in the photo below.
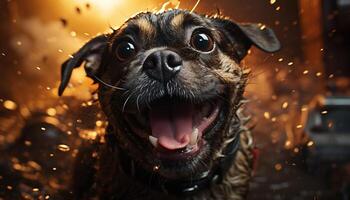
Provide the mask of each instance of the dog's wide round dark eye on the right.
POLYGON ((214 48, 214 41, 208 34, 197 32, 191 37, 191 46, 198 51, 208 52, 214 48))

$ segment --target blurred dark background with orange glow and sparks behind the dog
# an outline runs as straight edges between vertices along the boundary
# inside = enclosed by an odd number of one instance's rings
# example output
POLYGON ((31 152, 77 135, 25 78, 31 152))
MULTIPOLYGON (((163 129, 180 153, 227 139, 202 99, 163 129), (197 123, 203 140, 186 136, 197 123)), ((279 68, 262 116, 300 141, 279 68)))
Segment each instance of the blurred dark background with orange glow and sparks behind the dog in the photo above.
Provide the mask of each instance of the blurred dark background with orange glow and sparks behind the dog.
MULTIPOLYGON (((180 8, 192 9, 196 2, 182 0, 180 8)), ((0 0, 0 199, 59 198, 81 141, 103 134, 104 116, 92 94, 96 86, 82 70, 74 71, 58 98, 60 64, 89 38, 133 14, 178 3, 0 0), (52 138, 60 142, 50 143, 52 138)), ((252 100, 247 112, 260 151, 249 199, 349 199, 349 156, 308 165, 309 152, 318 156, 324 148, 306 127, 309 113, 332 113, 320 98, 349 105, 350 1, 202 0, 195 11, 265 24, 283 45, 276 54, 253 48, 243 62, 253 72, 245 95, 252 100)), ((334 130, 326 141, 339 140, 334 130)), ((350 141, 349 129, 339 134, 350 141)), ((339 146, 327 145, 329 151, 339 146)), ((346 142, 341 146, 341 155, 350 150, 346 142)))

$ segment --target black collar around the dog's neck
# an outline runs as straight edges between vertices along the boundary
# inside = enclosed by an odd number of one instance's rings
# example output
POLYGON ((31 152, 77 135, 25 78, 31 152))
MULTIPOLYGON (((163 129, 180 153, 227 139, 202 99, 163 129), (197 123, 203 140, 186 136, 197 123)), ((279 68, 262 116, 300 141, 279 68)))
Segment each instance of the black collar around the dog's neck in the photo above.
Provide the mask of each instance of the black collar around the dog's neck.
MULTIPOLYGON (((111 134, 108 134, 106 136, 107 141, 109 139, 112 139, 111 134)), ((232 161, 234 160, 236 152, 239 148, 239 138, 239 135, 237 135, 236 138, 227 145, 223 152, 225 156, 219 158, 218 163, 213 169, 203 173, 200 178, 197 178, 195 180, 164 179, 157 173, 150 173, 149 171, 146 171, 145 169, 140 167, 125 152, 119 153, 119 158, 123 171, 127 175, 136 179, 137 181, 142 182, 144 185, 150 186, 152 189, 162 191, 166 194, 173 194, 176 196, 187 196, 208 189, 213 184, 220 184, 222 182, 223 177, 231 167, 232 161)), ((122 150, 119 149, 118 152, 122 152, 122 150)))

